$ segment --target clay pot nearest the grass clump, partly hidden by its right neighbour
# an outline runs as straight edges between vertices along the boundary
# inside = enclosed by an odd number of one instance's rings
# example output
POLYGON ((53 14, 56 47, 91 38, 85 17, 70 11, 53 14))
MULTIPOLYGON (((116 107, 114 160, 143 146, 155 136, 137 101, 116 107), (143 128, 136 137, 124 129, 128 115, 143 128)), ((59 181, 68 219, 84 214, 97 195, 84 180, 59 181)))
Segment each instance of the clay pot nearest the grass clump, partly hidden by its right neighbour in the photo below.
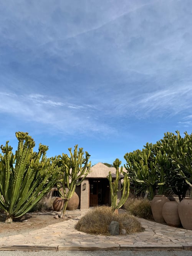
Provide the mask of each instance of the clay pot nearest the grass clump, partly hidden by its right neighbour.
POLYGON ((151 210, 153 218, 156 222, 165 223, 165 220, 162 216, 162 207, 166 202, 169 202, 169 199, 164 195, 157 195, 152 199, 151 210))

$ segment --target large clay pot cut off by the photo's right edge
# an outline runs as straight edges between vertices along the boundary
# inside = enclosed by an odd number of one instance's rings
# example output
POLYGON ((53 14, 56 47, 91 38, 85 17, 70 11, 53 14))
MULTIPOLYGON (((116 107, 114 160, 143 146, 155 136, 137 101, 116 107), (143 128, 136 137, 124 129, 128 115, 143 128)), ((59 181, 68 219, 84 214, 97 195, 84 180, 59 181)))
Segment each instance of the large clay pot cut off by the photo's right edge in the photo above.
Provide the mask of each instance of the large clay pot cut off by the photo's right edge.
POLYGON ((185 229, 192 230, 192 198, 184 198, 178 207, 179 218, 185 229))

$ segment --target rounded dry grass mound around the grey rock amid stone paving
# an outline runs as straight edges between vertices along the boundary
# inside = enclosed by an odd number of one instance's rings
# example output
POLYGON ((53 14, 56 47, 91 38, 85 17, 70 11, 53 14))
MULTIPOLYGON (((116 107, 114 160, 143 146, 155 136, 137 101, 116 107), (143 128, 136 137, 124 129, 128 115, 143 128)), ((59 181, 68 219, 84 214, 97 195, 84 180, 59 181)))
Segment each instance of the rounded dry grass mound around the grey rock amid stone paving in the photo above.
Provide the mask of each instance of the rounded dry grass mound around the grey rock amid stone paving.
POLYGON ((78 231, 87 234, 110 235, 109 224, 118 221, 119 230, 126 229, 127 234, 144 231, 137 218, 129 213, 117 214, 108 206, 97 206, 86 213, 76 224, 78 231))

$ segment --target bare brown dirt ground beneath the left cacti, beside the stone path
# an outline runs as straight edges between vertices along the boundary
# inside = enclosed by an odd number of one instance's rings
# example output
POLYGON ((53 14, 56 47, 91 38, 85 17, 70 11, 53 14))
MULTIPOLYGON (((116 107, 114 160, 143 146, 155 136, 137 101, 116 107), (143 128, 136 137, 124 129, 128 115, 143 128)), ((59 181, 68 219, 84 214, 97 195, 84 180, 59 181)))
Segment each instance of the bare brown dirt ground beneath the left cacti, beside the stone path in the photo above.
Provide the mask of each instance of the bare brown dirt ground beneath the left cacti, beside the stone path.
POLYGON ((5 214, 0 214, 0 237, 12 236, 15 234, 21 234, 29 232, 35 229, 45 228, 51 224, 67 221, 71 218, 80 216, 79 213, 68 213, 64 219, 55 219, 54 216, 58 214, 56 212, 46 213, 27 213, 20 220, 15 220, 12 223, 5 223, 5 214))

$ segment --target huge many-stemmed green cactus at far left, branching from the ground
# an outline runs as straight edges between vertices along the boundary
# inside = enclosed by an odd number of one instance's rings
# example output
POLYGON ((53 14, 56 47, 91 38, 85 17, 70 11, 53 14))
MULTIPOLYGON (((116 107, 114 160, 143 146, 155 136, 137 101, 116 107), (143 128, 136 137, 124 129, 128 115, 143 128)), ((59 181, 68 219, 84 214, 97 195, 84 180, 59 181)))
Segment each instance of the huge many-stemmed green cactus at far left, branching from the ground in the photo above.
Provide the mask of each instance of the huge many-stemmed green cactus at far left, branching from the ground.
POLYGON ((18 149, 15 155, 6 142, 0 154, 0 208, 7 214, 7 223, 27 213, 55 185, 58 167, 46 158, 48 147, 39 145, 28 133, 16 132, 18 149))

